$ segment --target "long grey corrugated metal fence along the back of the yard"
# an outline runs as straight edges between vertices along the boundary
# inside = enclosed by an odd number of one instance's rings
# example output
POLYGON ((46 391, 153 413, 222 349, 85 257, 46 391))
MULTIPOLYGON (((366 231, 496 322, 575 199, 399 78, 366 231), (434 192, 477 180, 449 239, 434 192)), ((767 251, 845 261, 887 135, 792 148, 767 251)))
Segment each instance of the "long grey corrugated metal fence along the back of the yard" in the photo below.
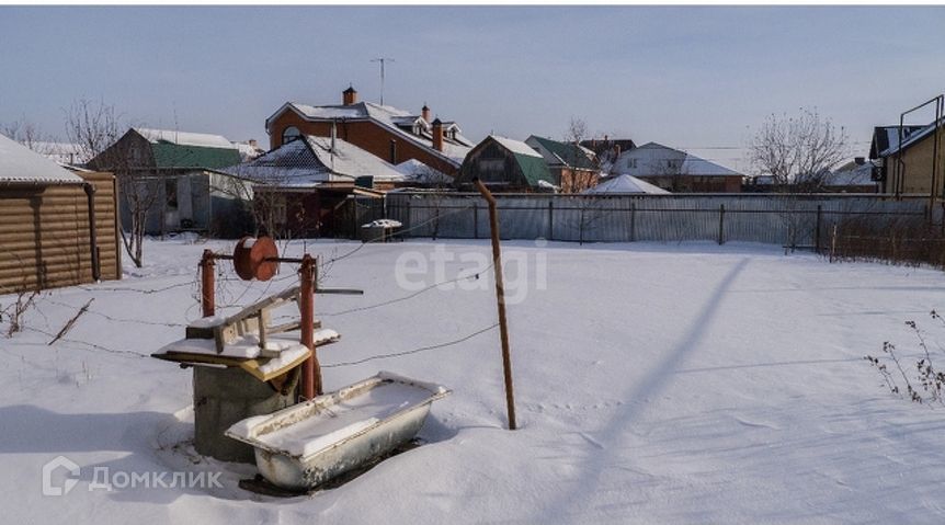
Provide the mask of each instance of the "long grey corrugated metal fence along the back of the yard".
MULTIPOLYGON (((926 201, 870 195, 497 195, 503 239, 577 242, 710 240, 819 247, 831 225, 858 216, 884 224, 925 216, 926 201)), ((408 237, 489 236, 476 194, 390 193, 386 214, 408 237)), ((933 210, 942 220, 942 210, 933 210)))

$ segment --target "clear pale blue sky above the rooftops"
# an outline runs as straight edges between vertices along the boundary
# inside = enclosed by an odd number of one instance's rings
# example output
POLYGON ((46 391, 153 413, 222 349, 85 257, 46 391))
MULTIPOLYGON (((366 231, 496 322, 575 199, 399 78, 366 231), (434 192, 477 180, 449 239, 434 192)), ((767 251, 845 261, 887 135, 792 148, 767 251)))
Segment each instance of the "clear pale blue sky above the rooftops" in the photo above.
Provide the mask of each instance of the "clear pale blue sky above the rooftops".
MULTIPOLYGON (((426 102, 479 139, 597 135, 731 167, 770 113, 817 107, 865 153, 945 91, 945 8, 0 7, 0 123, 62 134, 79 98, 152 127, 267 142, 288 100, 426 102)), ((918 119, 931 121, 931 115, 918 119)))

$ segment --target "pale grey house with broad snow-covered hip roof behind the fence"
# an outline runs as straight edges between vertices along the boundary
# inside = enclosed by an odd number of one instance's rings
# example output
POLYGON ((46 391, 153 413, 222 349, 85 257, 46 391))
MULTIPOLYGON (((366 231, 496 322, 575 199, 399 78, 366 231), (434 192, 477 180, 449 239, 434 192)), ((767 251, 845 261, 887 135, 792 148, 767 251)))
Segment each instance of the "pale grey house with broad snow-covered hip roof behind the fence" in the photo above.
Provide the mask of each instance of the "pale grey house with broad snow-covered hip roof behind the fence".
POLYGON ((673 193, 739 193, 744 175, 657 142, 624 151, 610 175, 633 175, 673 193))

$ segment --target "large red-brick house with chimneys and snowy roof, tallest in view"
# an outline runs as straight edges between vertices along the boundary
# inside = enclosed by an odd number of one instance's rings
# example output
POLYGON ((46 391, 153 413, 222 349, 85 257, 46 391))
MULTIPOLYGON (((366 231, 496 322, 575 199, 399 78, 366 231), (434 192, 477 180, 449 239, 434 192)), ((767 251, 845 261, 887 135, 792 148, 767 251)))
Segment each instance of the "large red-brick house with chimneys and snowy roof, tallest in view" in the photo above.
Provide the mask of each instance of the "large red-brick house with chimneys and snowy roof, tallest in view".
POLYGON ((456 174, 474 146, 455 122, 433 118, 426 105, 411 113, 358 101, 354 88, 344 90, 339 105, 286 102, 265 127, 272 149, 305 135, 333 135, 391 164, 415 159, 447 175, 456 174))

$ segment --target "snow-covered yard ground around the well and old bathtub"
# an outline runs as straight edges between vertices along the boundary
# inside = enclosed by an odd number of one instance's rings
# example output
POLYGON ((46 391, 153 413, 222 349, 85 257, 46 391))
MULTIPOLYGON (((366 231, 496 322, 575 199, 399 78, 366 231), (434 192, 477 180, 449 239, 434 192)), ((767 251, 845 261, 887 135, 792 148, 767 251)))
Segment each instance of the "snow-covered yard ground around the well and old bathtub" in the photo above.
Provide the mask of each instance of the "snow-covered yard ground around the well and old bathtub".
MULTIPOLYGON (((201 252, 231 244, 149 242, 145 269, 44 293, 27 329, 0 339, 2 522, 945 523, 945 409, 893 397, 863 361, 887 340, 914 355, 909 319, 945 344, 927 317, 945 308, 941 272, 735 243, 508 243, 521 426, 509 432, 498 330, 345 365, 494 324, 490 272, 358 310, 482 270, 488 244, 360 246, 309 244, 351 253, 323 286, 365 290, 316 299, 342 334, 319 354, 326 388, 379 369, 451 387, 421 432, 429 444, 311 497, 239 489, 253 467, 187 443, 191 372, 143 357, 198 317, 201 252), (80 467, 78 482, 43 495, 43 465, 57 456, 80 467), (221 487, 105 491, 93 477, 105 467, 223 472, 221 487)), ((278 292, 294 282, 287 270, 271 284, 223 281, 218 303, 278 292)))

